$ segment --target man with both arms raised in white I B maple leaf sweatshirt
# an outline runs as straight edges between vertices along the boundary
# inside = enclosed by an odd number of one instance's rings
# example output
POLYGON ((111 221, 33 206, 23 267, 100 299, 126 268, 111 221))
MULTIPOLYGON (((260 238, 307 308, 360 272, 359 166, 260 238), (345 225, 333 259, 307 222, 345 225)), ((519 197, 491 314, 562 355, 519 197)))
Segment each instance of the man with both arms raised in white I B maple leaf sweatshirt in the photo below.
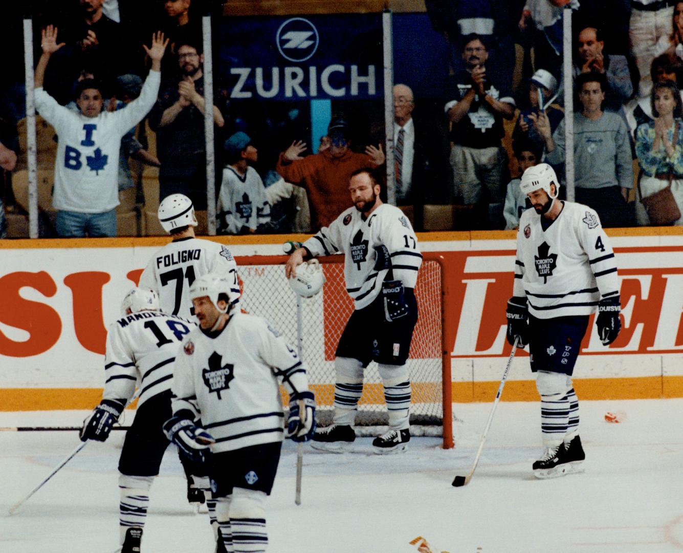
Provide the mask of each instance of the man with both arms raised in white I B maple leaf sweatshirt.
POLYGON ((59 105, 43 90, 45 68, 57 43, 57 29, 42 31, 42 56, 36 67, 36 108, 55 127, 58 137, 55 160, 53 206, 57 209, 57 234, 61 237, 116 236, 118 164, 121 138, 152 108, 161 81, 161 58, 167 41, 163 33, 144 46, 152 69, 139 98, 126 109, 102 111, 104 100, 98 83, 85 79, 77 88, 76 103, 81 113, 59 105))

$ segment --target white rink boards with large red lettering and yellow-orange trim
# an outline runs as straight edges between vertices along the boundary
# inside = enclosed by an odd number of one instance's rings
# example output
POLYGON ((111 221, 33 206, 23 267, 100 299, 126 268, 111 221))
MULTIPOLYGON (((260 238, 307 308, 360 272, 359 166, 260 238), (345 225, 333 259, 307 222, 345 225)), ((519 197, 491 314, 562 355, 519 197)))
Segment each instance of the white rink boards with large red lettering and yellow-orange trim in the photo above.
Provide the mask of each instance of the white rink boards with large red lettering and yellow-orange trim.
MULTIPOLYGON (((604 348, 591 323, 574 373, 577 393, 584 399, 682 397, 683 232, 609 234, 619 267, 624 327, 617 341, 604 348)), ((445 345, 456 402, 490 401, 510 353, 505 302, 512 292, 514 237, 514 232, 419 236, 423 251, 443 256, 445 345)), ((281 254, 281 243, 290 238, 216 240, 239 257, 281 254)), ((0 410, 85 409, 97 403, 107 325, 119 315, 124 293, 165 243, 154 238, 0 244, 0 410)), ((249 293, 290 293, 284 278, 275 291, 272 282, 262 291, 257 281, 251 282, 249 293)), ((318 332, 324 342, 324 321, 318 332)), ((528 361, 526 352, 516 355, 503 400, 538 399, 528 361)))

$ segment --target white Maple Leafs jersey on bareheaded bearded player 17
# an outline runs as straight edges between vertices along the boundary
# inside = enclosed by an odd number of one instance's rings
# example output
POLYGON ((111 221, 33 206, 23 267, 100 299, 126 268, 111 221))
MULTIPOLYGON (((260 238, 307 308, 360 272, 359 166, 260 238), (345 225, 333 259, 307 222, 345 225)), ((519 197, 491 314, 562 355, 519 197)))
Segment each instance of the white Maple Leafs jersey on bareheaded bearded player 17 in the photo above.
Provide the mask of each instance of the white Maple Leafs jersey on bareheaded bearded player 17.
POLYGON ((374 248, 384 245, 389 249, 393 278, 387 280, 400 280, 406 288, 415 288, 422 264, 410 221, 390 204, 381 204, 367 219, 357 208, 350 207, 303 245, 315 257, 344 254, 346 291, 356 309, 372 304, 389 273, 389 269, 374 270, 374 248))

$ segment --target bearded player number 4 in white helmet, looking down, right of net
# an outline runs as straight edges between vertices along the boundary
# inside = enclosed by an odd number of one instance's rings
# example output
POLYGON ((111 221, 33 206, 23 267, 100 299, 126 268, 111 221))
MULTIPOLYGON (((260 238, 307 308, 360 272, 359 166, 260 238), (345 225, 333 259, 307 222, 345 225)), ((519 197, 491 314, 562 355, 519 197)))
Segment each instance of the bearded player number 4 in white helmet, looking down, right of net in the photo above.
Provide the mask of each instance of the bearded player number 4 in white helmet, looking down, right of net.
POLYGON ((572 373, 589 315, 603 345, 619 334, 619 281, 614 252, 597 213, 557 199, 559 185, 547 163, 522 175, 531 200, 519 221, 514 292, 507 302, 507 341, 529 344, 541 396, 544 455, 533 474, 568 474, 585 459, 579 437, 579 400, 572 373))

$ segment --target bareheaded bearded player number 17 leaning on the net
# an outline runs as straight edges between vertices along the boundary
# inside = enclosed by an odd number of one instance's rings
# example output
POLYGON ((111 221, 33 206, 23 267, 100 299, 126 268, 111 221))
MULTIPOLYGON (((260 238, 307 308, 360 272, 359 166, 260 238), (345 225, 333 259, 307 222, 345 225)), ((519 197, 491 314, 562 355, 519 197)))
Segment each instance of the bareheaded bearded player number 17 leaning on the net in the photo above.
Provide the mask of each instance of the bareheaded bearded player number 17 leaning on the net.
POLYGON ((422 255, 403 212, 380 199, 380 181, 357 170, 349 190, 354 206, 303 243, 285 267, 288 278, 307 258, 343 252, 346 291, 354 312, 339 339, 335 358, 333 424, 313 435, 311 446, 344 451, 363 392, 363 370, 376 361, 389 411, 389 431, 374 442, 376 453, 405 450, 410 440, 410 377, 406 360, 417 323, 415 283, 422 255))

